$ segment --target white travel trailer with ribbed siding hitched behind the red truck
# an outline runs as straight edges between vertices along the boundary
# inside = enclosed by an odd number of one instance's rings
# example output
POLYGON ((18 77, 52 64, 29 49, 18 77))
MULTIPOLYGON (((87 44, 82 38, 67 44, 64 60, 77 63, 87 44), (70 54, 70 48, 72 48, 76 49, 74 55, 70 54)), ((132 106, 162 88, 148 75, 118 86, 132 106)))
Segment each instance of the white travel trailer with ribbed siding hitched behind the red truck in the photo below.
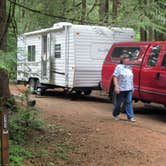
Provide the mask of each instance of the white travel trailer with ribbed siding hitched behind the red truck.
POLYGON ((114 42, 134 41, 131 28, 57 23, 18 37, 17 81, 31 91, 62 87, 90 94, 99 88, 103 60, 114 42))

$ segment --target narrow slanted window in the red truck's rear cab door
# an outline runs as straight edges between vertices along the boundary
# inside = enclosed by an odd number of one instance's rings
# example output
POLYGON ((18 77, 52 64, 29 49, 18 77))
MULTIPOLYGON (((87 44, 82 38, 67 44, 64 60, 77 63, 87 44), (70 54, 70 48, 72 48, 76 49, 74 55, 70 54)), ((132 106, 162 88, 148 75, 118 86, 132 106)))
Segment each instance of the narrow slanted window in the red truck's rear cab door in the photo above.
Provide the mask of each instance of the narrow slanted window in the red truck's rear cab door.
POLYGON ((148 66, 156 66, 159 54, 160 54, 161 46, 157 45, 154 46, 151 50, 151 53, 149 55, 148 59, 148 66))

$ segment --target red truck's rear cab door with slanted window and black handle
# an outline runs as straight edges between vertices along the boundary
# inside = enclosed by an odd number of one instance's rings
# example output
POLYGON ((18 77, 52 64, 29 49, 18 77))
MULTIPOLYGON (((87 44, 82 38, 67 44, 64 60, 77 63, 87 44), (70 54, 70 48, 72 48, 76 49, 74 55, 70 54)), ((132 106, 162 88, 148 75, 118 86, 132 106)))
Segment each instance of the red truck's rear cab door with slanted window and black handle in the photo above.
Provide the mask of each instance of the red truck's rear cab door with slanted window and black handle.
MULTIPOLYGON (((162 56, 162 45, 160 43, 151 44, 147 50, 140 77, 141 99, 149 102, 159 102, 159 97, 163 97, 160 89, 161 73, 159 61, 162 56)), ((162 78, 163 79, 163 78, 162 78)))

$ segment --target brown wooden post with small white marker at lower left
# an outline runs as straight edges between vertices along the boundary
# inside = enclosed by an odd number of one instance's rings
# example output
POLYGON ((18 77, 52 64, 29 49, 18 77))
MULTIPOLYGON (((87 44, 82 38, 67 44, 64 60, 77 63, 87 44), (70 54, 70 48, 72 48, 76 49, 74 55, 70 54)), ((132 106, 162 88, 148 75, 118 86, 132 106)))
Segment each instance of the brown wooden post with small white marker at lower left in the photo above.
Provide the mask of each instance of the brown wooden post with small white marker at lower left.
POLYGON ((1 165, 9 165, 9 131, 8 112, 0 110, 0 130, 1 130, 1 165))

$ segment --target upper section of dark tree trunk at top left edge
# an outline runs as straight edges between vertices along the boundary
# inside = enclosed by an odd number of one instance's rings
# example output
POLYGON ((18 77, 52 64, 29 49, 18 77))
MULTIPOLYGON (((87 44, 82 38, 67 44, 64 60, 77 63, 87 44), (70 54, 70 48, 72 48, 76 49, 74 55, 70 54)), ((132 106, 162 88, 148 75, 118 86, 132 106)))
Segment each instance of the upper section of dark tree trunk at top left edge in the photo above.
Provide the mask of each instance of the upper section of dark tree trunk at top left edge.
POLYGON ((6 0, 0 0, 0 50, 6 47, 6 0))

